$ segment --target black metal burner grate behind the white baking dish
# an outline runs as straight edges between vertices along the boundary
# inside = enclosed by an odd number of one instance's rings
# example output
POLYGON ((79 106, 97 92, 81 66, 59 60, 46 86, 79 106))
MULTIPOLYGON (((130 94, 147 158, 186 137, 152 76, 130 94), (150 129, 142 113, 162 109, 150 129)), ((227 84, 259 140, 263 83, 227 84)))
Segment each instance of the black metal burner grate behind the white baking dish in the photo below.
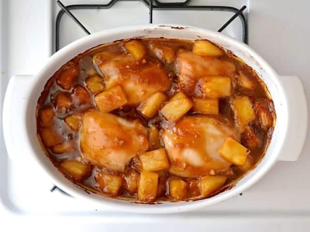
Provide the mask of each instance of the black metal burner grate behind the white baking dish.
MULTIPOLYGON (((63 14, 68 16, 75 21, 78 26, 85 31, 86 34, 91 34, 83 24, 70 12, 70 10, 85 10, 85 9, 109 9, 117 1, 140 1, 149 9, 149 23, 153 22, 153 11, 154 10, 200 10, 200 11, 228 11, 233 12, 234 15, 217 31, 221 32, 225 29, 236 17, 239 16, 242 23, 242 41, 248 43, 248 24, 244 14, 242 13, 247 7, 243 6, 240 9, 231 6, 201 6, 201 5, 188 5, 191 0, 185 0, 183 2, 160 2, 159 0, 110 0, 107 4, 77 4, 64 6, 60 0, 57 0, 57 4, 62 8, 56 17, 56 31, 55 31, 55 52, 59 50, 60 41, 60 22, 63 14)), ((53 186, 50 190, 54 191, 57 186, 53 186)), ((60 189, 61 190, 61 189, 60 189)), ((62 190, 61 190, 62 191, 62 190)), ((62 191, 63 192, 63 191, 62 191)))

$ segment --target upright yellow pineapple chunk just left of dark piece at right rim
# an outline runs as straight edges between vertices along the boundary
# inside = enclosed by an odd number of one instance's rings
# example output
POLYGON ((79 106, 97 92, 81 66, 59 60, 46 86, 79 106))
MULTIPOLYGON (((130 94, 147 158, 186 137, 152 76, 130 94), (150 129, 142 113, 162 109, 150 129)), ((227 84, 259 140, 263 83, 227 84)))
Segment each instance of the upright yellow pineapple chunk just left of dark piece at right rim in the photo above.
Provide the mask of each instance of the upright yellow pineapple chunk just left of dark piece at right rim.
POLYGON ((234 117, 240 127, 255 119, 252 104, 247 96, 237 96, 231 101, 234 117))

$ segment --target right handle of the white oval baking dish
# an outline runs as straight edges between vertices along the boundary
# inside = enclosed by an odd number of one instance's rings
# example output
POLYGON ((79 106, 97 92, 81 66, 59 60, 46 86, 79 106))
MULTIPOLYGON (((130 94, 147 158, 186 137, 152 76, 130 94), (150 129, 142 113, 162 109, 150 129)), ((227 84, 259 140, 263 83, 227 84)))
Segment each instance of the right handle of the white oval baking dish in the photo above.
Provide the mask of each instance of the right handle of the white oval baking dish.
POLYGON ((287 131, 279 160, 298 160, 307 136, 308 106, 301 79, 297 76, 280 76, 287 106, 287 131))

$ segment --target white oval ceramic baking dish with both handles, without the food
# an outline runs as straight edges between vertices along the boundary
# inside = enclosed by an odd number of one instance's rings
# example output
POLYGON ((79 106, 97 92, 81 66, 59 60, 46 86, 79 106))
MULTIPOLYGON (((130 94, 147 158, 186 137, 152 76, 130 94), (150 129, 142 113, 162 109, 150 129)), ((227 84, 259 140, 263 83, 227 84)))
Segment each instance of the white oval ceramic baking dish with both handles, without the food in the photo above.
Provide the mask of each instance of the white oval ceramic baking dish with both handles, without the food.
MULTIPOLYGON (((13 76, 7 87, 3 106, 3 132, 10 158, 22 160, 20 153, 28 153, 33 165, 40 165, 52 183, 70 195, 117 210, 140 213, 184 212, 231 198, 252 186, 277 160, 296 160, 306 139, 308 123, 307 102, 303 84, 298 77, 280 76, 248 45, 221 33, 181 25, 141 25, 104 30, 78 41, 51 56, 41 70, 33 76, 13 76), (102 197, 77 188, 65 178, 47 158, 36 135, 35 109, 47 80, 64 63, 80 53, 102 43, 129 38, 175 38, 185 40, 207 39, 231 51, 253 68, 268 87, 274 101, 277 120, 270 145, 257 167, 236 185, 208 199, 190 202, 162 202, 137 204, 102 197)), ((265 177, 268 178, 268 177, 265 177)), ((31 180, 28 180, 31 181, 31 180)))

